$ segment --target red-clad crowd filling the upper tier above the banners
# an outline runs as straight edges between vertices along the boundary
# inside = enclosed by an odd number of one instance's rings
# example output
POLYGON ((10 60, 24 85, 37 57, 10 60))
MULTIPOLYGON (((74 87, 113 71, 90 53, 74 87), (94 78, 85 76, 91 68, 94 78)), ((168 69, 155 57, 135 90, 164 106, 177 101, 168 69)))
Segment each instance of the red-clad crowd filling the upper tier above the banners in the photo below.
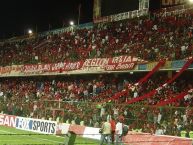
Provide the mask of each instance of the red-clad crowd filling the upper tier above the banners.
POLYGON ((5 42, 0 64, 78 61, 119 55, 156 61, 193 55, 192 11, 167 17, 137 18, 59 34, 5 42))

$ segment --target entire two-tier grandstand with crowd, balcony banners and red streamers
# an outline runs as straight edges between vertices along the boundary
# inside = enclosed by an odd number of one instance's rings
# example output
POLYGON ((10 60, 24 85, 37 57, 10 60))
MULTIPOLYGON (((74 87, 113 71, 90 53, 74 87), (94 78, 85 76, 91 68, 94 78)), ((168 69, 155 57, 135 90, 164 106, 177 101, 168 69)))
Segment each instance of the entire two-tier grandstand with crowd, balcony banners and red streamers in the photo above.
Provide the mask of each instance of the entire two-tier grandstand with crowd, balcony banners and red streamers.
POLYGON ((0 111, 192 137, 193 11, 62 29, 0 43, 0 111))

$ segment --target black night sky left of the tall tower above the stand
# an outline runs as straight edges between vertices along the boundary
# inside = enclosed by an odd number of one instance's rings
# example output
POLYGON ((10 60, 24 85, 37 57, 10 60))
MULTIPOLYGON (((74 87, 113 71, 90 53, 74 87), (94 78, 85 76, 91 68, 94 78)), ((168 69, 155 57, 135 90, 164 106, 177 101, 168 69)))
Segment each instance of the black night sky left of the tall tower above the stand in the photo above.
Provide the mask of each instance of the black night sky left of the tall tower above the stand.
POLYGON ((35 31, 36 26, 38 32, 47 31, 49 24, 51 29, 68 26, 70 20, 77 21, 79 4, 80 23, 91 22, 93 0, 1 0, 0 39, 23 35, 28 28, 35 31))

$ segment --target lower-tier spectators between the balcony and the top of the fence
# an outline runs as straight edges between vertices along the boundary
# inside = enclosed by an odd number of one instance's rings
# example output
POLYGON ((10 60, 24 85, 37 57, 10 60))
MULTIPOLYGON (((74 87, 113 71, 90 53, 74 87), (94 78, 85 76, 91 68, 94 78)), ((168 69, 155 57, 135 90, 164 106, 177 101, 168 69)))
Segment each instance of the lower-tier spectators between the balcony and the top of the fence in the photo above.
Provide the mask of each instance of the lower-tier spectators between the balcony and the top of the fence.
MULTIPOLYGON (((142 96, 158 88, 168 79, 167 73, 155 73, 142 85, 134 85, 143 74, 106 74, 88 76, 64 77, 27 77, 27 78, 1 78, 0 96, 4 100, 15 99, 17 102, 33 100, 62 100, 62 101, 92 101, 102 102, 117 92, 129 89, 122 96, 126 100, 142 96), (132 87, 129 87, 132 86, 132 87)), ((192 88, 191 73, 177 79, 171 85, 158 91, 152 98, 144 102, 145 105, 156 105, 158 101, 169 99, 180 92, 192 88), (169 97, 169 98, 168 98, 169 97)), ((121 100, 121 99, 120 99, 121 100)), ((186 99, 188 101, 188 98, 186 99)), ((112 100, 116 101, 116 100, 112 100)), ((184 102, 185 103, 185 102, 184 102)), ((191 104, 191 102, 187 102, 191 104)), ((187 106, 186 104, 185 106, 187 106)), ((177 104, 176 104, 177 105, 177 104)), ((179 104, 178 104, 179 105, 179 104)), ((182 106, 182 104, 181 104, 182 106)))

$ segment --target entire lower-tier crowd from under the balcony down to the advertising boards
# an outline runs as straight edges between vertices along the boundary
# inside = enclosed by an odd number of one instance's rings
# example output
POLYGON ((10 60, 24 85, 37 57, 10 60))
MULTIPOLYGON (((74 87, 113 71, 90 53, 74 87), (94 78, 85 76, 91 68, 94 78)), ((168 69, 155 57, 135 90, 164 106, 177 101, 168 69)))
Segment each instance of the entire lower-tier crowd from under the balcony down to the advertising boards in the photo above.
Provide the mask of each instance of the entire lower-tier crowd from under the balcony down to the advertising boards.
POLYGON ((100 127, 103 118, 110 118, 111 116, 116 118, 122 115, 130 129, 141 128, 144 132, 156 133, 157 128, 165 128, 166 134, 174 135, 172 132, 168 133, 166 128, 171 129, 175 125, 178 126, 177 131, 179 132, 182 129, 193 130, 192 93, 188 97, 172 102, 170 106, 174 106, 174 108, 154 108, 154 105, 159 101, 172 98, 175 94, 192 88, 193 79, 190 79, 192 76, 188 72, 172 85, 160 90, 153 98, 134 106, 125 104, 125 98, 132 99, 156 89, 164 82, 163 78, 167 78, 166 73, 154 74, 142 86, 130 88, 128 96, 121 97, 124 98, 122 101, 120 101, 121 99, 119 101, 113 100, 99 105, 101 103, 98 102, 124 90, 129 84, 134 84, 140 77, 141 74, 109 74, 91 75, 90 77, 83 75, 78 78, 76 76, 2 78, 0 99, 4 105, 1 104, 0 109, 12 115, 54 119, 94 127, 100 127), (152 107, 147 108, 147 105, 152 107), (61 110, 64 111, 52 110, 56 108, 62 108, 61 110), (176 120, 178 121, 175 122, 176 120), (167 124, 168 122, 170 124, 167 124))

